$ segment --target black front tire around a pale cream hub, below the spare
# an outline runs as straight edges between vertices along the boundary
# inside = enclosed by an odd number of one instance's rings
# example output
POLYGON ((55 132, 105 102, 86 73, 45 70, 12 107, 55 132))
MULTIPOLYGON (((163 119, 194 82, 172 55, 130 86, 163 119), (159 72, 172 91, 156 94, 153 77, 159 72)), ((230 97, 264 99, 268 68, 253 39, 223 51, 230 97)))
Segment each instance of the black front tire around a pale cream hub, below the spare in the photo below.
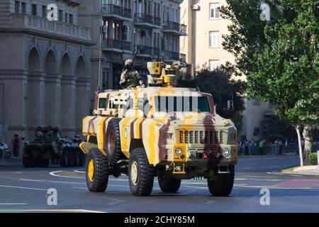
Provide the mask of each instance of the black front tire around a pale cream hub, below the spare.
POLYGON ((144 148, 135 148, 128 162, 128 180, 130 192, 135 196, 149 196, 154 184, 155 168, 149 164, 144 148), (133 169, 135 165, 136 169, 133 169), (136 170, 137 177, 132 173, 136 170))

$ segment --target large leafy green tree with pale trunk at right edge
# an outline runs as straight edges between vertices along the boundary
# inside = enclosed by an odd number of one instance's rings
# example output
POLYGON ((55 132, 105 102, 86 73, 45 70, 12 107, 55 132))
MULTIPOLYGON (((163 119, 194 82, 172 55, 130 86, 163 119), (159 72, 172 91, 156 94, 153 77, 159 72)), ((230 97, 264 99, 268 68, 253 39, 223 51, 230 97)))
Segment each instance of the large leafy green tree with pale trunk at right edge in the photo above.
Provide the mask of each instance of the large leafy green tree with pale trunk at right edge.
POLYGON ((247 94, 274 104, 275 113, 296 128, 301 165, 308 165, 312 132, 319 125, 318 1, 267 4, 271 22, 260 20, 259 1, 228 1, 220 11, 233 23, 223 46, 237 57, 237 73, 247 76, 247 94), (306 138, 304 157, 301 125, 306 138))

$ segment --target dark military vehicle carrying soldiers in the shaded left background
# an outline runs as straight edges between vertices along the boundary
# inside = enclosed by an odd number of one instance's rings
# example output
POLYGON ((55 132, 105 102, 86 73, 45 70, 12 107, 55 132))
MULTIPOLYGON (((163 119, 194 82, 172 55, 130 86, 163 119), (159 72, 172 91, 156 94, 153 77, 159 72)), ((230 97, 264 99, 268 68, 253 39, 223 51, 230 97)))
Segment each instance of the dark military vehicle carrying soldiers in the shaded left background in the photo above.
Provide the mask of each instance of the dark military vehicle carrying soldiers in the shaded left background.
POLYGON ((79 149, 82 140, 75 135, 74 138, 61 137, 59 128, 50 126, 38 127, 34 139, 27 142, 23 148, 24 167, 48 167, 60 162, 61 167, 82 167, 84 154, 79 149))

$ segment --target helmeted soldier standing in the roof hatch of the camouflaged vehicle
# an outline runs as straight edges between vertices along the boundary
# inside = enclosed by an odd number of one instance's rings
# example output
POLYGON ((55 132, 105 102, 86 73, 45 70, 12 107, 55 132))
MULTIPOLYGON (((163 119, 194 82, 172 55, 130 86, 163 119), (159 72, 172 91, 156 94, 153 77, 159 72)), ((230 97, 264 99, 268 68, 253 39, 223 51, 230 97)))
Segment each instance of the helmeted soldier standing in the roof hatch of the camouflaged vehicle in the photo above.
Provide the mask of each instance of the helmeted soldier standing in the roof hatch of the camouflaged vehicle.
POLYGON ((125 61, 123 72, 121 74, 120 85, 122 89, 135 89, 135 87, 145 87, 142 77, 137 70, 134 70, 133 60, 128 59, 125 61))

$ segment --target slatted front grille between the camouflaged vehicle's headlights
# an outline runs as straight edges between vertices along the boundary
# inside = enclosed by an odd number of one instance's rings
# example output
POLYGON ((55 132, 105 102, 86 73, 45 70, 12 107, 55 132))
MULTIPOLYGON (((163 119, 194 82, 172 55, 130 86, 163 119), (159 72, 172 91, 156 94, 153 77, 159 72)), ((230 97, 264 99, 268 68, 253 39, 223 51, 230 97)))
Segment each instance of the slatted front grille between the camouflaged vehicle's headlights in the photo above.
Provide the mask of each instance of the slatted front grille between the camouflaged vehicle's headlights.
POLYGON ((223 143, 223 131, 179 131, 179 143, 223 143))

